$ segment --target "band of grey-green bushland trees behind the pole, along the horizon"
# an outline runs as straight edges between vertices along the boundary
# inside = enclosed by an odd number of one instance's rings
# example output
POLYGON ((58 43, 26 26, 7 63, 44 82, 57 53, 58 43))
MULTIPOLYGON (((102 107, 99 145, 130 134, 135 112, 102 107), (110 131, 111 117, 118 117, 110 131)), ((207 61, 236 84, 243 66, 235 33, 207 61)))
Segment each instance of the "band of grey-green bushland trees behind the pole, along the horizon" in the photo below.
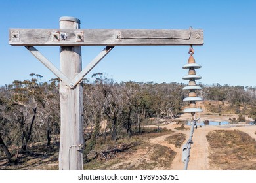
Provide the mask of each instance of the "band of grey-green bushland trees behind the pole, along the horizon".
MULTIPOLYGON (((29 80, 15 80, 0 87, 0 155, 17 163, 20 153, 30 144, 58 144, 60 134, 60 80, 42 82, 41 75, 30 74, 29 80)), ((99 137, 112 141, 142 133, 142 125, 150 118, 171 122, 186 106, 185 84, 154 82, 121 82, 93 75, 93 82, 83 80, 85 131, 84 157, 91 152, 99 137)), ((205 100, 225 101, 242 117, 256 119, 256 88, 242 86, 202 85, 205 100), (246 110, 241 110, 245 108, 246 110)), ((200 93, 198 93, 200 95, 200 93)), ((220 106, 217 108, 223 110, 220 106)), ((241 118, 242 118, 241 117, 241 118)))

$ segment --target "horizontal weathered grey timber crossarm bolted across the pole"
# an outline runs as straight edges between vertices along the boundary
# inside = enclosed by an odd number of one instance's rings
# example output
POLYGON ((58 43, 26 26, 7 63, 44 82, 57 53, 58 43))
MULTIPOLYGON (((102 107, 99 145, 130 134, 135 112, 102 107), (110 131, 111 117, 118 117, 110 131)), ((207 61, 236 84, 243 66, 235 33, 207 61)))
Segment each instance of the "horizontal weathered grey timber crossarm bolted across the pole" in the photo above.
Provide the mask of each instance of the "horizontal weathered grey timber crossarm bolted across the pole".
POLYGON ((12 46, 203 45, 202 29, 9 29, 12 46))

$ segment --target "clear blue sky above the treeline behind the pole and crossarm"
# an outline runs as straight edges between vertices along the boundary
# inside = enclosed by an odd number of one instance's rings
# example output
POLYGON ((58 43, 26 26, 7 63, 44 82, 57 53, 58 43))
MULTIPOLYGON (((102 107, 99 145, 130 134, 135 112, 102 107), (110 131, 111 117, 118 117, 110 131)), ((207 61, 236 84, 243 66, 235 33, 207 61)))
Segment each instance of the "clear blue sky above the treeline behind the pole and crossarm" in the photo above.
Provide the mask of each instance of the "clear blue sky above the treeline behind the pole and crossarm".
MULTIPOLYGON (((30 73, 55 78, 22 46, 8 44, 9 28, 59 27, 61 16, 81 20, 82 29, 194 29, 204 30, 203 46, 194 46, 202 65, 197 74, 203 84, 256 86, 256 1, 87 0, 0 2, 0 85, 29 78, 30 73)), ((83 46, 83 67, 104 47, 83 46)), ((58 46, 37 46, 59 67, 58 46)), ((188 46, 116 46, 87 75, 101 72, 117 82, 184 82, 181 67, 188 46)))

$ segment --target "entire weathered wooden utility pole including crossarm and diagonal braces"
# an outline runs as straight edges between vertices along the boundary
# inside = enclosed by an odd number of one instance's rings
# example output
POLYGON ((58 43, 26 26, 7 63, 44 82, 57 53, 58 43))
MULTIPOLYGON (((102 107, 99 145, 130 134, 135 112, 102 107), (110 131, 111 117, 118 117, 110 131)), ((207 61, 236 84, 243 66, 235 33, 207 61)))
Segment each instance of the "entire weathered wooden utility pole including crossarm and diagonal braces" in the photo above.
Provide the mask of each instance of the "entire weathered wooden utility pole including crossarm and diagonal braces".
POLYGON ((60 78, 59 169, 83 169, 83 77, 114 46, 203 45, 202 29, 80 29, 77 18, 61 17, 60 29, 10 29, 9 44, 26 46, 60 78), (34 46, 60 46, 60 70, 34 46), (81 70, 81 46, 106 46, 81 70))

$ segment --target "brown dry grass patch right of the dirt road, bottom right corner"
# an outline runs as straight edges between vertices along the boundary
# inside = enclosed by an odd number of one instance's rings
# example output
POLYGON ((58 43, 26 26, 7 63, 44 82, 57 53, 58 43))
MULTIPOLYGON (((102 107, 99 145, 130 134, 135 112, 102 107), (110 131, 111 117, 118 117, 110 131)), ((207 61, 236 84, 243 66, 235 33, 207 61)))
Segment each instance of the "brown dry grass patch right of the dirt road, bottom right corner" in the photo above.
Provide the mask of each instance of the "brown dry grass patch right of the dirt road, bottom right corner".
POLYGON ((217 169, 256 169, 256 141, 247 133, 218 130, 207 135, 209 159, 217 169))

